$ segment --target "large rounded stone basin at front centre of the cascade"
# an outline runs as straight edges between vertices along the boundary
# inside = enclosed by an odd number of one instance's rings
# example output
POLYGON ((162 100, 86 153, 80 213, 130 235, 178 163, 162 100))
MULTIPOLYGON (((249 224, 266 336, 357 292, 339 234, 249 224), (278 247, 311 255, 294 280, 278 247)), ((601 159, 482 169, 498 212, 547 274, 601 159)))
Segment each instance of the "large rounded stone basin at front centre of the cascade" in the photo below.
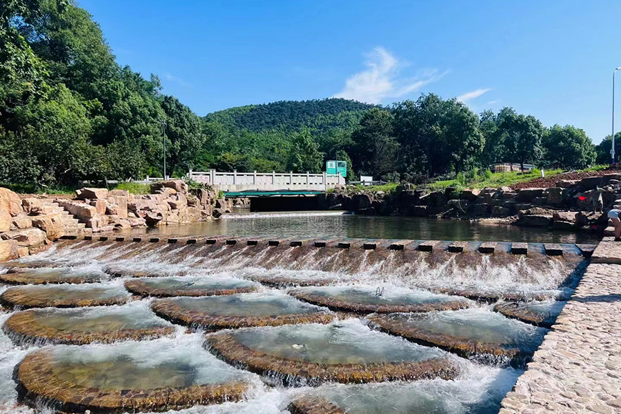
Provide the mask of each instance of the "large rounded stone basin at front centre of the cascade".
POLYGON ((371 331, 358 319, 217 333, 208 335, 206 347, 291 385, 451 379, 459 371, 442 351, 371 331))

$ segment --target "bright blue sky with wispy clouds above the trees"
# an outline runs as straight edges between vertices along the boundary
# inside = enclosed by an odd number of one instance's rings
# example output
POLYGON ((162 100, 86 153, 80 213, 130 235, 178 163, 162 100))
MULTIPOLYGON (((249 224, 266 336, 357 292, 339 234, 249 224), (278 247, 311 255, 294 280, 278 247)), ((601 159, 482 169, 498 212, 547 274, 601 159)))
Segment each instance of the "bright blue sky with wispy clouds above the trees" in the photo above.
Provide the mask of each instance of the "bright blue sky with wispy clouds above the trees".
MULTIPOLYGON (((610 134, 621 1, 79 0, 117 60, 197 115, 422 92, 610 134)), ((621 127, 621 73, 618 74, 621 127)), ((619 130, 619 129, 617 129, 619 130)))

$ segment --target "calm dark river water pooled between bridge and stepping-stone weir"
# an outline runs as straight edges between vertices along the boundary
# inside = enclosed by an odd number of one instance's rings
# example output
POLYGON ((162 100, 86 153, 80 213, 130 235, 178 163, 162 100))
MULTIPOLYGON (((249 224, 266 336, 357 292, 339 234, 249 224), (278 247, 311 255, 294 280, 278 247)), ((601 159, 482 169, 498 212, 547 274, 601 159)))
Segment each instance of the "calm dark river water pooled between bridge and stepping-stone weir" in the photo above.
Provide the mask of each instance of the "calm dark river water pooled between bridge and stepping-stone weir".
MULTIPOLYGON (((484 221, 348 215, 344 212, 234 213, 186 226, 148 228, 150 235, 351 237, 362 239, 476 240, 593 244, 593 233, 526 228, 484 221)), ((129 230, 128 234, 135 234, 129 230)))

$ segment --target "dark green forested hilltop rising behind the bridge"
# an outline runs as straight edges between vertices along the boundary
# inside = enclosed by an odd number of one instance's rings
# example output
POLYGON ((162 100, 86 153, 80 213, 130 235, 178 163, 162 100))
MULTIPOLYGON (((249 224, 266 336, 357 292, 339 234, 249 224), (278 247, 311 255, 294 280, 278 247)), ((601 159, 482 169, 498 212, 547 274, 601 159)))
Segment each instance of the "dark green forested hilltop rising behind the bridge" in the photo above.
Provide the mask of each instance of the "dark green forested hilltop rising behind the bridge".
POLYGON ((364 112, 373 105, 342 98, 311 101, 277 101, 261 105, 236 106, 210 113, 204 119, 234 130, 317 130, 343 127, 351 117, 348 112, 364 112))

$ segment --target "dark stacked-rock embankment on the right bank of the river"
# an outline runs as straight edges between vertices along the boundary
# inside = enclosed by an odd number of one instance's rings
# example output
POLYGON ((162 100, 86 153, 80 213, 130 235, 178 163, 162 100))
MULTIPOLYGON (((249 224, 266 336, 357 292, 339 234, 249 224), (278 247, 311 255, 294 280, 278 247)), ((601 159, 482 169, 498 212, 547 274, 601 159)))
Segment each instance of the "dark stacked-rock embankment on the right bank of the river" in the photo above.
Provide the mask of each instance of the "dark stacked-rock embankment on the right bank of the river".
POLYGON ((509 187, 444 191, 413 189, 408 184, 395 193, 383 191, 351 193, 337 188, 322 195, 322 208, 341 208, 362 215, 401 215, 415 217, 497 217, 523 226, 573 230, 603 226, 607 217, 592 214, 591 196, 599 188, 604 210, 621 206, 621 174, 614 173, 580 180, 559 180, 551 188, 509 187))

